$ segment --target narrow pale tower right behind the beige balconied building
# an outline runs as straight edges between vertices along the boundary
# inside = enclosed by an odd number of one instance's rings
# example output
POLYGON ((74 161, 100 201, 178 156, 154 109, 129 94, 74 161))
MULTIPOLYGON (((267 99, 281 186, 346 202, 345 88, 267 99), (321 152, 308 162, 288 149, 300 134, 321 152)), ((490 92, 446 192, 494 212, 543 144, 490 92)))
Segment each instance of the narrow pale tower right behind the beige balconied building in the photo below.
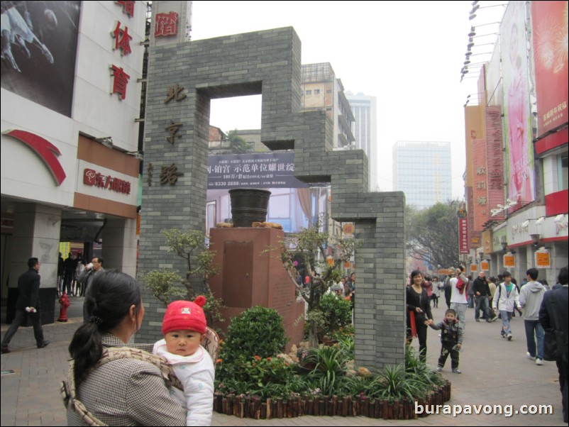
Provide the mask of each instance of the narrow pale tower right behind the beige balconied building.
POLYGON ((370 191, 379 188, 379 173, 377 170, 377 98, 359 92, 353 95, 346 91, 355 121, 353 135, 355 148, 360 148, 368 155, 370 170, 370 191))

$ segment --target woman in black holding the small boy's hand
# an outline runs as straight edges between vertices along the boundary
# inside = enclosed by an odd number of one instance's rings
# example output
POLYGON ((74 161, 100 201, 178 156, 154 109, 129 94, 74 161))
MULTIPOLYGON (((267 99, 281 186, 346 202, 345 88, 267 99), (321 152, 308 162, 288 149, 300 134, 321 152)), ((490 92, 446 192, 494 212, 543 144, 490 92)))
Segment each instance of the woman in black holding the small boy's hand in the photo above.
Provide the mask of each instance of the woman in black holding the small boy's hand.
POLYGON ((419 270, 411 272, 411 282, 407 286, 407 336, 408 340, 419 338, 419 357, 426 360, 426 331, 431 314, 431 300, 426 290, 421 287, 423 275, 419 270))

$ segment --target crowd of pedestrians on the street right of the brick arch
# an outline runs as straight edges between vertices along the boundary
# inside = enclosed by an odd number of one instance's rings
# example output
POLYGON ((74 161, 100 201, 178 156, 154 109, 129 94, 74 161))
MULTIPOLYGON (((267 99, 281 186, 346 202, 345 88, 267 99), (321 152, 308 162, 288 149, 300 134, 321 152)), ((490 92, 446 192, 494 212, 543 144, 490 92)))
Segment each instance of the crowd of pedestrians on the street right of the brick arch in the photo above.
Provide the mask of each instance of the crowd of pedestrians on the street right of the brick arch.
POLYGON ((510 321, 517 312, 524 318, 526 357, 537 366, 543 365, 543 360, 556 362, 563 420, 568 422, 568 267, 559 270, 557 283, 552 289, 549 289, 545 280, 538 280, 539 271, 536 268, 526 271, 520 287, 507 271, 497 278, 488 279, 482 271, 473 280, 464 275, 464 270, 460 265, 451 267, 450 274, 440 281, 438 277, 422 275, 419 270, 411 272, 407 284, 408 343, 412 338, 418 338, 419 357, 426 360, 427 327, 441 331, 441 353, 436 370, 443 370, 448 355, 451 355, 451 370, 460 374, 458 365, 466 335, 467 307, 474 309, 477 322, 483 319, 492 323, 499 318, 502 321, 499 333, 507 341, 514 337, 510 321), (438 305, 435 288, 439 294, 444 294, 448 307, 445 317, 438 323, 431 314, 431 302, 433 306, 438 305))

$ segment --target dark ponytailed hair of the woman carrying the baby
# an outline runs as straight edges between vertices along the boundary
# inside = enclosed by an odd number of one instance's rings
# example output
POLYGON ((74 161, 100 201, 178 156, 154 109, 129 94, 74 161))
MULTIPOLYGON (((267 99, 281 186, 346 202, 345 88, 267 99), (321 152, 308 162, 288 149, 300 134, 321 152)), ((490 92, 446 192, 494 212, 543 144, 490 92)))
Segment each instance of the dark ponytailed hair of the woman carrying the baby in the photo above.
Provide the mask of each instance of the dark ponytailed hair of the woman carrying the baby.
POLYGON ((142 299, 135 279, 113 270, 95 275, 85 295, 85 306, 91 321, 75 331, 69 345, 69 353, 75 362, 75 384, 79 385, 101 358, 101 334, 116 328, 133 304, 138 318, 142 299))

